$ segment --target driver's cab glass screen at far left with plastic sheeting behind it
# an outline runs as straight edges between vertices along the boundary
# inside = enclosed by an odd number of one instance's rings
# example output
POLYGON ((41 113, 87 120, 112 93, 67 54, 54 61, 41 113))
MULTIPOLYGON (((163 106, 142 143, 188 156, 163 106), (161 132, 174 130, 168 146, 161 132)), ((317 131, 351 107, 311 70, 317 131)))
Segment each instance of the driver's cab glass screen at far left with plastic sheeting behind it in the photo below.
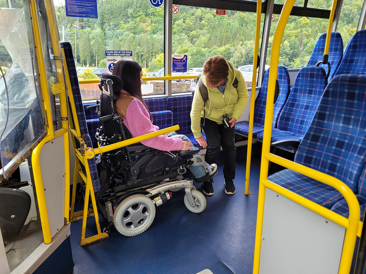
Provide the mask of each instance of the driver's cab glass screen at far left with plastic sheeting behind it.
POLYGON ((45 126, 28 2, 0 1, 0 18, 0 148, 7 177, 44 136, 45 126))

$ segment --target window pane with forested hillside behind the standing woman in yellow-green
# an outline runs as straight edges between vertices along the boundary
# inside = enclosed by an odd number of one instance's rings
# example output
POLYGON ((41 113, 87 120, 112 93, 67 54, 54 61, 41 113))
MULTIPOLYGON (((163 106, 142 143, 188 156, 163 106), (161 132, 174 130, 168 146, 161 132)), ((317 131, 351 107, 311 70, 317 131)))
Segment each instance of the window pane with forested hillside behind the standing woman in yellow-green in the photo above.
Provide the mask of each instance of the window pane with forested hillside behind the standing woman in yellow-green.
MULTIPOLYGON (((255 12, 226 10, 225 15, 217 15, 212 8, 178 7, 178 14, 173 14, 172 54, 187 54, 187 75, 202 73, 205 61, 216 54, 224 56, 235 68, 253 64, 255 12)), ((264 14, 261 19, 260 38, 264 14)), ((251 75, 246 74, 244 79, 251 87, 251 75)), ((188 90, 187 83, 173 82, 172 93, 188 90)))

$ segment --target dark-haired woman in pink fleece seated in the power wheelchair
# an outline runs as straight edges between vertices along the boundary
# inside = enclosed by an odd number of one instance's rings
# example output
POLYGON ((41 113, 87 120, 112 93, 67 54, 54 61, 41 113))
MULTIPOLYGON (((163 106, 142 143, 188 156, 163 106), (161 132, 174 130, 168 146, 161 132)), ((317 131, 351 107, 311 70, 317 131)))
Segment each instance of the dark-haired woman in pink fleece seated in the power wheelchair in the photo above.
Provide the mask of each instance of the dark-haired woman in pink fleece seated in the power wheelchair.
MULTIPOLYGON (((123 119, 123 123, 130 131, 131 136, 137 137, 159 130, 158 126, 153 125, 153 118, 142 99, 141 66, 136 61, 120 60, 113 68, 113 75, 119 76, 124 82, 124 88, 113 99, 117 112, 123 119)), ((150 138, 141 141, 141 143, 161 151, 187 151, 192 146, 188 137, 175 132, 150 138)), ((209 165, 206 163, 206 166, 210 175, 217 170, 216 164, 209 165)), ((203 166, 191 166, 189 170, 195 178, 202 178, 207 175, 203 166)))

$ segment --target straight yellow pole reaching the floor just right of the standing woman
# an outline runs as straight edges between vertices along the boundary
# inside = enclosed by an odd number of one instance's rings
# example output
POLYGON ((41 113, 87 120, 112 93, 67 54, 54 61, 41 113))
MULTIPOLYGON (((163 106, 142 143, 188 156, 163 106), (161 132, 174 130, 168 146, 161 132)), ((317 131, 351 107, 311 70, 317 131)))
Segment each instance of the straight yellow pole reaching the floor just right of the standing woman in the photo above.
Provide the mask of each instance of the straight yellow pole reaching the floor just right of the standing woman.
POLYGON ((262 13, 262 1, 257 1, 257 20, 255 22, 255 41, 254 41, 254 59, 253 59, 253 76, 252 76, 252 88, 250 92, 250 112, 249 112, 249 133, 248 133, 248 145, 247 145, 247 167, 245 173, 245 191, 244 194, 249 193, 249 178, 250 178, 250 160, 251 160, 251 148, 253 142, 253 123, 254 123, 254 102, 255 102, 255 87, 257 81, 257 56, 259 50, 259 33, 261 31, 261 13, 262 13), (254 85, 253 85, 254 83, 254 85))

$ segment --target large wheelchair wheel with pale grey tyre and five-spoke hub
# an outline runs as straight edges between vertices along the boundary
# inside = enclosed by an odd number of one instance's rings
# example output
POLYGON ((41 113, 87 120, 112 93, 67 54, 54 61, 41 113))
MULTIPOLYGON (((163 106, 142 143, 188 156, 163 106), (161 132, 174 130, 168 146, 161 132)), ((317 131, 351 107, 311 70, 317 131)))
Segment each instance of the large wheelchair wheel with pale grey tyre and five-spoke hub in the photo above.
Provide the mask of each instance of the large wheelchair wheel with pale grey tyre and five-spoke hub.
POLYGON ((117 206, 113 223, 122 235, 135 236, 150 227, 155 212, 155 205, 149 197, 141 194, 131 195, 117 206))

